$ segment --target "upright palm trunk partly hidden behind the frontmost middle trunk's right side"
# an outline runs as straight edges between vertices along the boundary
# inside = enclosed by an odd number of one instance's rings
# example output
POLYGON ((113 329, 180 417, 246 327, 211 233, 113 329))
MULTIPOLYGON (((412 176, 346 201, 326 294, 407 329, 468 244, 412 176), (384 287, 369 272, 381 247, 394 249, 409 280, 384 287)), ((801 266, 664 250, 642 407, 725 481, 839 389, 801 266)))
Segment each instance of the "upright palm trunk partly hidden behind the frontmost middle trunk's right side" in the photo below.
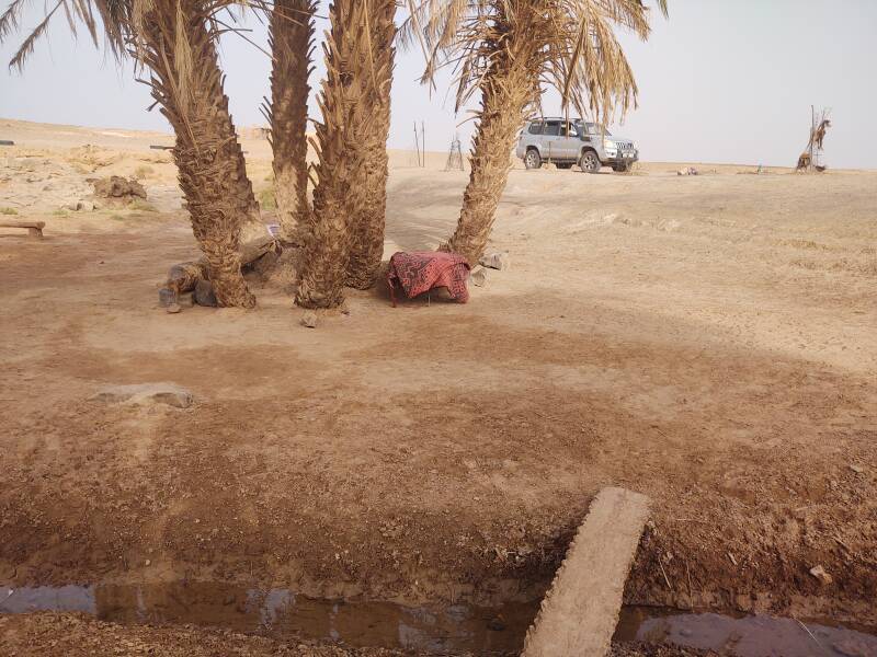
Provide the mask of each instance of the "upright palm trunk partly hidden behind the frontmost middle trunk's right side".
POLYGON ((365 203, 351 217, 352 246, 348 285, 368 289, 375 285, 384 257, 384 228, 387 214, 387 137, 390 130, 390 88, 396 49, 395 0, 366 0, 372 27, 372 59, 364 62, 366 80, 372 82, 373 123, 365 137, 365 203))

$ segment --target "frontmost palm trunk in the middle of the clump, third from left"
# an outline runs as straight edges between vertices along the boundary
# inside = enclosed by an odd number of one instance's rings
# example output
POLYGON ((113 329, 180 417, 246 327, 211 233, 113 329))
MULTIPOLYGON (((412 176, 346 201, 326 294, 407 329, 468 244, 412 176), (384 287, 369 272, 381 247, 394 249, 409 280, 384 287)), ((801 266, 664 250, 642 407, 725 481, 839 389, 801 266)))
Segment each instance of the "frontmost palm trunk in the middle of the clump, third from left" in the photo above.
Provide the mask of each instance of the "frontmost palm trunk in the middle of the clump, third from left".
POLYGON ((372 82, 366 2, 335 0, 329 8, 331 30, 323 44, 327 77, 318 99, 314 208, 305 231, 296 303, 337 308, 344 300, 351 250, 352 214, 366 204, 363 183, 365 136, 372 129, 372 82))

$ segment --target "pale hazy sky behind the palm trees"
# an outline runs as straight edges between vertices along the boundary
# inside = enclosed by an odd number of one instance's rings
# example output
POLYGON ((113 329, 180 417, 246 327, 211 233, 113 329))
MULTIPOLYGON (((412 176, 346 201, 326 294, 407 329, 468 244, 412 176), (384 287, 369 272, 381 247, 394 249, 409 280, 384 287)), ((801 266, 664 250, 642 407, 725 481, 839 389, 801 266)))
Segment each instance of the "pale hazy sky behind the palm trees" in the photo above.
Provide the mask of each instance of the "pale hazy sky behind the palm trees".
MULTIPOLYGON (((25 27, 37 20, 31 12, 25 27)), ((250 26, 264 43, 264 27, 250 26)), ((318 21, 320 34, 326 26, 318 21)), ((639 108, 615 130, 635 139, 643 159, 790 165, 806 146, 815 104, 832 111, 825 163, 877 168, 877 0, 670 0, 670 19, 656 12, 653 28, 647 44, 625 37, 639 108)), ((96 51, 84 34, 72 39, 60 14, 49 37, 23 74, 0 68, 0 117, 168 129, 158 111, 146 112, 148 90, 130 69, 96 51)), ((19 41, 0 47, 3 62, 19 41)), ((266 57, 234 36, 221 56, 235 120, 262 124, 266 57)), ((413 147, 415 119, 425 120, 432 150, 446 150, 455 131, 468 143, 471 122, 458 127, 467 116, 454 116, 447 77, 430 97, 417 81, 421 67, 418 53, 400 54, 390 146, 413 147)), ((546 113, 559 112, 556 95, 544 104, 546 113)))

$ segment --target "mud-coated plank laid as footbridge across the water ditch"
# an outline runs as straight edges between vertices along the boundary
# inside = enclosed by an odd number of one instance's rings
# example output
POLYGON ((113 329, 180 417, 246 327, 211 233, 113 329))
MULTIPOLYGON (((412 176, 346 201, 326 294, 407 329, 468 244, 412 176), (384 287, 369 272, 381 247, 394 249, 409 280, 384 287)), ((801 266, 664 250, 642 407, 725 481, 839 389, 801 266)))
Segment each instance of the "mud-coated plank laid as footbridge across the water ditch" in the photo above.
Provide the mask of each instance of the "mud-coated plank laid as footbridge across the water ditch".
POLYGON ((645 495, 624 488, 600 492, 527 631, 524 657, 608 654, 648 516, 645 495))

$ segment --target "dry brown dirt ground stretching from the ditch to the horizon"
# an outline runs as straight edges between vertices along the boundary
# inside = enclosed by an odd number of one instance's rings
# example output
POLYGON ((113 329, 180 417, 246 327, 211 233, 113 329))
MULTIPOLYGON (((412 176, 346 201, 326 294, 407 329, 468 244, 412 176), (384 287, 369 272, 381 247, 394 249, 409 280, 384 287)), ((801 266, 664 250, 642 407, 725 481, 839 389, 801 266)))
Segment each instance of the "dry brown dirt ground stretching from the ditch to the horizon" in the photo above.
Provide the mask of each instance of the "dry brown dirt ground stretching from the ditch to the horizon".
MULTIPOLYGON (((627 601, 877 625, 877 173, 515 170, 468 304, 307 330, 277 280, 158 309, 196 255, 168 137, 0 131, 0 219, 47 223, 0 229, 0 583, 534 599, 617 485, 653 500, 627 601), (149 205, 59 209, 110 173, 149 205), (194 406, 89 401, 164 381, 194 406)), ((392 154, 387 255, 452 230, 443 159, 392 154)))

